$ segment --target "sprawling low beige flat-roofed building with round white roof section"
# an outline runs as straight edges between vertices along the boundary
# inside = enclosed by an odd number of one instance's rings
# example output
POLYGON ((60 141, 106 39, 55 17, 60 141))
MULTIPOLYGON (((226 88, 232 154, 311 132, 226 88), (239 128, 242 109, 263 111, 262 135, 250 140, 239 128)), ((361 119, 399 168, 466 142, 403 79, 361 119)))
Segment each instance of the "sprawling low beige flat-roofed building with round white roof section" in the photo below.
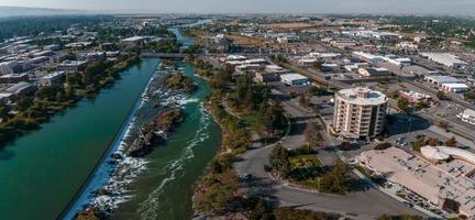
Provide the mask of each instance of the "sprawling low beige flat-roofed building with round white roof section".
POLYGON ((358 161, 388 182, 424 198, 427 204, 441 208, 445 199, 459 202, 460 213, 472 219, 475 215, 475 155, 445 146, 424 146, 421 154, 423 157, 389 147, 363 152, 358 161))

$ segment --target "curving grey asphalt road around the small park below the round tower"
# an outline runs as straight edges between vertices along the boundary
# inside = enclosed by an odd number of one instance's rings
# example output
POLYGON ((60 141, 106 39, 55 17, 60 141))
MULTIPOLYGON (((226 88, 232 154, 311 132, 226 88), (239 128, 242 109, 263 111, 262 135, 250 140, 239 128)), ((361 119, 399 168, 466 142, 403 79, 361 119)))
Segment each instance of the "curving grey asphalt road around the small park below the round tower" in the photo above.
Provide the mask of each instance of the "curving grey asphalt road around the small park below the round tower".
POLYGON ((384 213, 423 216, 373 188, 336 196, 276 183, 264 170, 264 165, 268 165, 268 155, 273 147, 274 145, 251 148, 235 162, 234 167, 239 175, 246 173, 253 176, 245 183, 247 196, 267 198, 284 207, 335 212, 352 219, 374 219, 384 213))

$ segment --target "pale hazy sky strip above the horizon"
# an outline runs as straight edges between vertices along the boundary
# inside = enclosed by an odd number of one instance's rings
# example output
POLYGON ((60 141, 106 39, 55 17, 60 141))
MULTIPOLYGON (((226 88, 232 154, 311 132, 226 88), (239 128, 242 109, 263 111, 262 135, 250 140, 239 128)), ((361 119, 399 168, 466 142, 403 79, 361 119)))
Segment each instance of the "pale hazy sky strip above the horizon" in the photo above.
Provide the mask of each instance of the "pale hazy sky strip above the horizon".
POLYGON ((475 15, 475 0, 0 0, 0 6, 130 13, 429 13, 475 15))

